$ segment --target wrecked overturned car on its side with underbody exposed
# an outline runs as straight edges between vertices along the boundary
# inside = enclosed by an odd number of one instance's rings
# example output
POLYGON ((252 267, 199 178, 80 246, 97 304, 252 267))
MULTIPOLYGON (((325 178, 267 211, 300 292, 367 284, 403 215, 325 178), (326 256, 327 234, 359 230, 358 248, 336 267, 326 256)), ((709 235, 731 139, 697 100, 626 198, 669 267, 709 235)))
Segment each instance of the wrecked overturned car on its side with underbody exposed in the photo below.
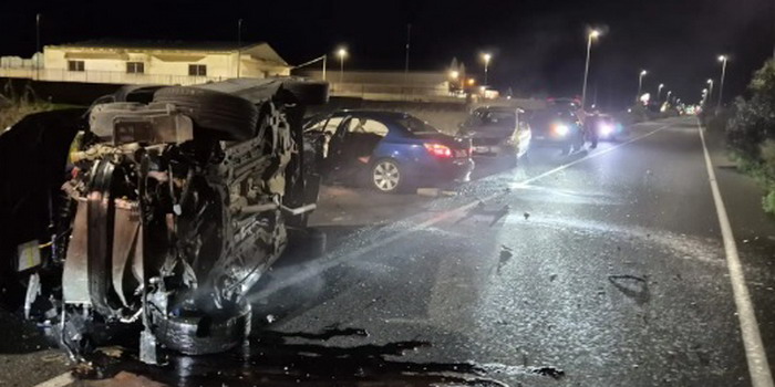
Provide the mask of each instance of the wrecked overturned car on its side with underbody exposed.
POLYGON ((0 135, 4 303, 75 358, 106 325, 138 328, 146 363, 240 345, 246 292, 289 234, 314 233, 301 119, 327 98, 324 83, 230 80, 25 117, 0 135))

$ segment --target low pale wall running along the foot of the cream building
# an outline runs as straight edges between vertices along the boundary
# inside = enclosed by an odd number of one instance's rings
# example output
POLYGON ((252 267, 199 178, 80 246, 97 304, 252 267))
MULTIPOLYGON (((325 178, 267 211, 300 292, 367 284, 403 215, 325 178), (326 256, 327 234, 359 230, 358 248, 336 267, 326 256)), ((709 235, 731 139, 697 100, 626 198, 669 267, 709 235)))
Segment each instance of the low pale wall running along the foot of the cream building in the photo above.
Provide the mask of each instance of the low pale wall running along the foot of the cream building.
POLYGON ((118 71, 68 71, 64 69, 0 67, 0 77, 49 82, 192 85, 223 81, 220 76, 132 74, 118 71))

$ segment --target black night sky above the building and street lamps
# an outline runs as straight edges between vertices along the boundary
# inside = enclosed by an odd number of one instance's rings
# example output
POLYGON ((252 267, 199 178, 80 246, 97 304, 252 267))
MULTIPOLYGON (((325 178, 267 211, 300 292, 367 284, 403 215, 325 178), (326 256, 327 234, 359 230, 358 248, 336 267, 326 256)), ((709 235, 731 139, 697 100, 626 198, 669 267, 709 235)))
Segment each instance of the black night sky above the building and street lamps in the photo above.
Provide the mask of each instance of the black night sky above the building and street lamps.
POLYGON ((519 94, 580 94, 586 30, 603 28, 592 48, 590 98, 622 105, 644 88, 666 84, 684 101, 719 77, 728 53, 725 95, 741 94, 752 72, 773 55, 775 0, 448 0, 448 1, 13 1, 0 12, 0 54, 34 50, 34 14, 42 42, 95 38, 267 41, 290 63, 347 44, 351 69, 404 65, 412 23, 412 69, 435 70, 453 56, 469 73, 490 51, 490 83, 519 94))

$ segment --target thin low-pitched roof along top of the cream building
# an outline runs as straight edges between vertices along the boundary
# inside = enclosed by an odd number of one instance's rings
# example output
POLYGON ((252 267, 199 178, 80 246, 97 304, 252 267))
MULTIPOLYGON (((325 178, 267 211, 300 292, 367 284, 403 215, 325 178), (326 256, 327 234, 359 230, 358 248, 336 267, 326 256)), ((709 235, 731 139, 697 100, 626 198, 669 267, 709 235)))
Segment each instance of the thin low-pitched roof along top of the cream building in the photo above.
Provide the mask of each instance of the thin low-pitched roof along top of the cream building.
POLYGON ((236 51, 246 50, 265 42, 225 42, 225 41, 179 41, 179 40, 121 40, 93 39, 81 42, 54 44, 61 48, 84 49, 137 49, 137 50, 177 50, 177 51, 236 51))

